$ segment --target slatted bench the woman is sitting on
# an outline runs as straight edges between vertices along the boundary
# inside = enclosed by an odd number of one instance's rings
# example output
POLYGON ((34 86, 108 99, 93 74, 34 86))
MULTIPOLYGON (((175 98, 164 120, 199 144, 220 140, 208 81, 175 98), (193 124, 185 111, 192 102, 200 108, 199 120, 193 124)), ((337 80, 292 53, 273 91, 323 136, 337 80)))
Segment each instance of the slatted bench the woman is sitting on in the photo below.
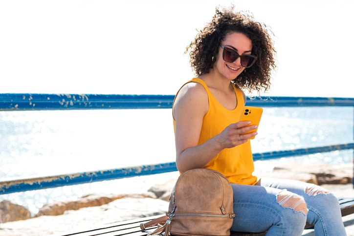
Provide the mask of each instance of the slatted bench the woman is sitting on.
MULTIPOLYGON (((339 198, 339 204, 342 216, 351 215, 354 213, 354 198, 339 198)), ((148 222, 162 215, 150 216, 145 218, 127 220, 122 222, 111 223, 98 229, 88 229, 81 232, 68 233, 62 236, 146 236, 148 232, 154 230, 156 227, 148 228, 146 232, 141 232, 140 224, 148 222)), ((305 229, 311 228, 313 225, 306 224, 305 229)), ((244 233, 231 232, 231 236, 264 236, 266 232, 262 233, 244 233)))

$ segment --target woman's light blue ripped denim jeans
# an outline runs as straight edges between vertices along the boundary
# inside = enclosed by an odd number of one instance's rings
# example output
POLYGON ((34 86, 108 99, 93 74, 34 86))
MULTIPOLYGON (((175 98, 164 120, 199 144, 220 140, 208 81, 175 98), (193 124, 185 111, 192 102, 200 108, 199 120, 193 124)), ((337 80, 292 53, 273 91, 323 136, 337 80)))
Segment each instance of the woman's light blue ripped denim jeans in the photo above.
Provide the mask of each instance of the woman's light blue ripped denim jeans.
POLYGON ((301 236, 307 221, 315 236, 346 236, 337 198, 320 186, 262 177, 254 186, 232 184, 232 189, 231 231, 301 236))

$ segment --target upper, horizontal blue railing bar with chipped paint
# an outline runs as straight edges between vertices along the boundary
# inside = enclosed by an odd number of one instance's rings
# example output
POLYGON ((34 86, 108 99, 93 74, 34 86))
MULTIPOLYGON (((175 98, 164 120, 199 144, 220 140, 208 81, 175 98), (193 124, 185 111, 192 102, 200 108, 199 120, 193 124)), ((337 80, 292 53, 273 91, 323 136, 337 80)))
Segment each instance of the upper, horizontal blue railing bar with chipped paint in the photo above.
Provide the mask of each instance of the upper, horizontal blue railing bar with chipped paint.
MULTIPOLYGON (((2 93, 0 110, 171 108, 174 98, 174 95, 2 93)), ((247 105, 256 107, 354 106, 354 98, 256 97, 252 100, 247 98, 247 105)))

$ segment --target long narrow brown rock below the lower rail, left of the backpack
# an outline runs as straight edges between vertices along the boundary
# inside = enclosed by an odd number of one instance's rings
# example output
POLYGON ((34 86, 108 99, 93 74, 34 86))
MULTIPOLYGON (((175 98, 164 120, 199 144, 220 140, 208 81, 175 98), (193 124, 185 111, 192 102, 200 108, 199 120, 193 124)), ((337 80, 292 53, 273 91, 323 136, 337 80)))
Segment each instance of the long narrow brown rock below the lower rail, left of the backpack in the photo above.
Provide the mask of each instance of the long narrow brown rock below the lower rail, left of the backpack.
POLYGON ((133 198, 155 198, 155 195, 152 193, 144 194, 89 194, 75 201, 68 202, 54 202, 44 205, 39 212, 34 216, 38 217, 41 215, 63 215, 67 210, 78 210, 84 207, 95 207, 102 206, 104 204, 110 203, 116 199, 124 197, 133 197, 133 198))

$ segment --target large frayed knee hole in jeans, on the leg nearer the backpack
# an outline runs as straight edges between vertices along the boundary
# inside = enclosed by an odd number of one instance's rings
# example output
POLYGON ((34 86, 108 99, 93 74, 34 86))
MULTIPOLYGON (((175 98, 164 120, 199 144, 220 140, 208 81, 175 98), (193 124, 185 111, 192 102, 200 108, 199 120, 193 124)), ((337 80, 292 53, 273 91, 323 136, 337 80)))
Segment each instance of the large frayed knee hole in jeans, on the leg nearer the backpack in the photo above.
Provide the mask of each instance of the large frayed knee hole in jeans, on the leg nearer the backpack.
POLYGON ((289 207, 295 212, 302 212, 305 215, 308 213, 307 205, 302 196, 291 193, 287 190, 282 190, 277 194, 277 202, 282 207, 289 207))

